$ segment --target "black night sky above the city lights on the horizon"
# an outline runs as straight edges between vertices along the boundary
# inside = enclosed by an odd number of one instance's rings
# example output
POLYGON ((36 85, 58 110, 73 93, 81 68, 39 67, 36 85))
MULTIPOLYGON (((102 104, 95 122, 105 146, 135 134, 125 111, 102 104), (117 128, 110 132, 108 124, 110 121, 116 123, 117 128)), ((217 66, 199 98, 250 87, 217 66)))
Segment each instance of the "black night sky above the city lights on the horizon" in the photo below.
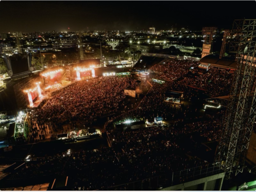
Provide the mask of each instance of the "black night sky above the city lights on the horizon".
POLYGON ((77 30, 231 29, 256 19, 256 1, 1 1, 0 33, 77 30))

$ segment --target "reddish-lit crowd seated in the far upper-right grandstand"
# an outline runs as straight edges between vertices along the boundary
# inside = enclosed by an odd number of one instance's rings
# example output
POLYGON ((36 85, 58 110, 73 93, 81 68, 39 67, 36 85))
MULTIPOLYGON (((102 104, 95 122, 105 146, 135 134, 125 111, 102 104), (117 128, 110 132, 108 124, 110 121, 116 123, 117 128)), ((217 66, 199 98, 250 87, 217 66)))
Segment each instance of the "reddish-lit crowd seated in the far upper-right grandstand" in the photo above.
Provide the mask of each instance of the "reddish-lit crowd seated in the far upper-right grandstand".
POLYGON ((233 73, 229 70, 210 68, 209 71, 200 75, 196 66, 199 63, 187 60, 169 60, 164 64, 157 64, 151 69, 160 72, 157 79, 172 82, 172 89, 189 91, 188 86, 203 89, 206 94, 226 96, 229 94, 233 73), (189 69, 195 72, 192 74, 189 69), (176 81, 175 81, 176 80, 176 81))

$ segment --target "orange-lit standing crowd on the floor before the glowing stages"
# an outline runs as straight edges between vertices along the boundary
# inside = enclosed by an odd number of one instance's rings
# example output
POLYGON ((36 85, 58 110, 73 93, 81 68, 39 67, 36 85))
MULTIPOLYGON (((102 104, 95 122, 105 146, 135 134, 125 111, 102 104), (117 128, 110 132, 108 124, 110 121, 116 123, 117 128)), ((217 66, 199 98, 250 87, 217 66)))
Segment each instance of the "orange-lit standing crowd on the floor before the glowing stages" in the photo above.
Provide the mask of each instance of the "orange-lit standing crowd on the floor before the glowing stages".
POLYGON ((102 77, 79 81, 60 90, 41 109, 29 114, 29 137, 54 137, 60 127, 56 124, 76 120, 83 124, 96 121, 106 113, 114 113, 124 106, 124 88, 136 87, 136 80, 128 77, 102 77))

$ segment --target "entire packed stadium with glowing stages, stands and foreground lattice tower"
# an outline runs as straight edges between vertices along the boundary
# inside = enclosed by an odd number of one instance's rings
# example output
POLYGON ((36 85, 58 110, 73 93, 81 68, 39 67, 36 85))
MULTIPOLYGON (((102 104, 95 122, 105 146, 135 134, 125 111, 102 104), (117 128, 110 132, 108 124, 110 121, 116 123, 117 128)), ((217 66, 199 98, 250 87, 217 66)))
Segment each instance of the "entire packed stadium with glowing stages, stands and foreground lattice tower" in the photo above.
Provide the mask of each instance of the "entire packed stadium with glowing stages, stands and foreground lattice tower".
POLYGON ((1 114, 1 190, 242 185, 237 173, 249 178, 255 163, 250 42, 235 60, 141 53, 133 67, 83 59, 34 71, 30 53, 15 56, 20 68, 3 54, 3 93, 20 112, 1 114))

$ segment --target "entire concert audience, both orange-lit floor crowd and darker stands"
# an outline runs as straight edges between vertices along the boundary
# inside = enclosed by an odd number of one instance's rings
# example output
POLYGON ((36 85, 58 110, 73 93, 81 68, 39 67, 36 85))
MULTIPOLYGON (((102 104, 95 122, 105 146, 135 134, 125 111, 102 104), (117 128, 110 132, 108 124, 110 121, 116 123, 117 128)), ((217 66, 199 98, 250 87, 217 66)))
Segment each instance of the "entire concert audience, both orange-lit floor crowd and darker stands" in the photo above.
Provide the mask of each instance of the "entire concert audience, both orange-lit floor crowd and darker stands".
MULTIPOLYGON (((153 66, 151 69, 159 72, 157 79, 163 79, 165 83, 150 81, 151 89, 135 109, 113 116, 106 122, 111 147, 31 160, 12 178, 61 174, 69 176, 70 189, 107 190, 123 183, 206 166, 208 162, 196 157, 198 144, 192 140, 196 136, 218 139, 223 111, 217 112, 211 119, 198 117, 198 108, 190 105, 190 101, 200 100, 200 95, 192 87, 204 89, 206 94, 212 96, 225 95, 232 74, 216 69, 210 69, 203 75, 189 74, 191 67, 197 65, 194 61, 169 60, 153 66), (182 99, 188 104, 166 102, 165 93, 168 90, 183 92, 182 99), (154 117, 173 122, 168 127, 160 125, 122 132, 116 132, 113 126, 127 119, 154 117), (180 142, 184 138, 190 138, 188 140, 192 144, 184 147, 180 142)), ((51 135, 54 138, 58 122, 68 120, 74 124, 79 120, 88 124, 104 114, 116 113, 125 105, 126 87, 135 88, 136 80, 109 76, 79 81, 60 90, 42 109, 29 113, 29 137, 40 140, 45 135, 51 135)))

